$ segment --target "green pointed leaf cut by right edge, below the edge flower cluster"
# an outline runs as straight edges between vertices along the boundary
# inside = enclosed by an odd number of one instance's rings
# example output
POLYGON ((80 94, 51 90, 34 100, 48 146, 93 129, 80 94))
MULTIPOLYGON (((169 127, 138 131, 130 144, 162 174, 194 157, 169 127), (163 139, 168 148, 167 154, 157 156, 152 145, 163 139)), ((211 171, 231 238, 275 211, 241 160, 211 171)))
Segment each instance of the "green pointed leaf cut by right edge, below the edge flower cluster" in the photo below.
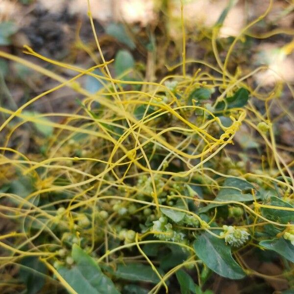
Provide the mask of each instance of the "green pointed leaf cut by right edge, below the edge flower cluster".
POLYGON ((290 241, 285 240, 284 238, 273 239, 273 240, 264 240, 259 242, 259 245, 273 250, 291 262, 294 262, 294 246, 290 241))

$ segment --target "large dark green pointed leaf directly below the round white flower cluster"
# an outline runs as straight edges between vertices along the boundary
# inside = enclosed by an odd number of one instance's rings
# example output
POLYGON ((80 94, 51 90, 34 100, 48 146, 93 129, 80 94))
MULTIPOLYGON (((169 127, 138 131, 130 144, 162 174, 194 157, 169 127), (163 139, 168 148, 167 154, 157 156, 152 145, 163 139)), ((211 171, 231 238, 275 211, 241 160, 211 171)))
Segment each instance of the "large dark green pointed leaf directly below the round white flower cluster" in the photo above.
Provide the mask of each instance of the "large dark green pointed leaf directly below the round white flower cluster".
POLYGON ((208 232, 200 235, 193 244, 196 255, 208 268, 222 277, 242 279, 245 272, 233 259, 231 248, 223 239, 216 238, 208 232))

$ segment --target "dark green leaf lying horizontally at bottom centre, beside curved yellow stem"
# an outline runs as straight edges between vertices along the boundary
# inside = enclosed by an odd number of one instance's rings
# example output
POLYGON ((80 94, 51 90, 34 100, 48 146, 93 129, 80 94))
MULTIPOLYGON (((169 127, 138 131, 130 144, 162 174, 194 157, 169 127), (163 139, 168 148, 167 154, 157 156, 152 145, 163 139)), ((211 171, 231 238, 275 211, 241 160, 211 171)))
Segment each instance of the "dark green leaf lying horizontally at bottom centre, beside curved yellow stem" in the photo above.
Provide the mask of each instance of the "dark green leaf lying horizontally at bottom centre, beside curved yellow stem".
POLYGON ((114 272, 117 278, 128 281, 142 281, 157 284, 159 278, 150 266, 140 263, 119 264, 114 272))

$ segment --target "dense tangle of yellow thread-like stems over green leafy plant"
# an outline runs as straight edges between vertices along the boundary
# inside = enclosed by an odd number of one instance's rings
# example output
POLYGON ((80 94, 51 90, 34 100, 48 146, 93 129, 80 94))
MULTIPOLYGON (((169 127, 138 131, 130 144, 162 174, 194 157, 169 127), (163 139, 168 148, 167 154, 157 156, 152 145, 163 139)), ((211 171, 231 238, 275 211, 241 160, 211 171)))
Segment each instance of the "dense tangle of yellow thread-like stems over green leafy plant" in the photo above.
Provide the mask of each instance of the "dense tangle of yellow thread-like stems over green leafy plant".
POLYGON ((85 70, 25 46, 25 53, 75 72, 69 80, 0 51, 58 82, 16 111, 0 107, 1 173, 13 171, 0 187, 0 214, 14 223, 0 237, 2 293, 176 293, 177 280, 181 293, 199 294, 214 274, 286 279, 294 287, 294 161, 276 143, 276 88, 248 82, 266 67, 227 69, 237 42, 269 11, 230 43, 224 60, 217 49, 223 20, 215 25, 217 65, 186 59, 182 18, 182 61, 157 82, 124 66, 125 51, 113 77, 90 12, 98 65, 85 70), (191 63, 202 70, 189 72, 191 63), (83 88, 83 75, 100 89, 83 88), (84 97, 74 113, 27 110, 62 87, 84 97), (9 146, 27 123, 39 132, 39 152, 22 154, 9 146), (242 127, 255 153, 231 147, 242 127), (278 262, 283 274, 250 268, 248 255, 278 262))

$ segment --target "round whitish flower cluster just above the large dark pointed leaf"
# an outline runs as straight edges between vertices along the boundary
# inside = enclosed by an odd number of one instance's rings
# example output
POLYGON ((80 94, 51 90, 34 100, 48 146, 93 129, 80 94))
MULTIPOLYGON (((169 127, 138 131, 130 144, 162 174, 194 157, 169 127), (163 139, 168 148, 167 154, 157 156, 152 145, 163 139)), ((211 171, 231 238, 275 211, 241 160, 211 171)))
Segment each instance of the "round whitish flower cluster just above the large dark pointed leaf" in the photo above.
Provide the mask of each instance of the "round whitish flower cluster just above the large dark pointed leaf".
POLYGON ((250 234, 246 229, 236 229, 231 225, 223 225, 222 228, 224 231, 220 236, 224 238, 225 243, 231 246, 240 247, 249 239, 250 234))

